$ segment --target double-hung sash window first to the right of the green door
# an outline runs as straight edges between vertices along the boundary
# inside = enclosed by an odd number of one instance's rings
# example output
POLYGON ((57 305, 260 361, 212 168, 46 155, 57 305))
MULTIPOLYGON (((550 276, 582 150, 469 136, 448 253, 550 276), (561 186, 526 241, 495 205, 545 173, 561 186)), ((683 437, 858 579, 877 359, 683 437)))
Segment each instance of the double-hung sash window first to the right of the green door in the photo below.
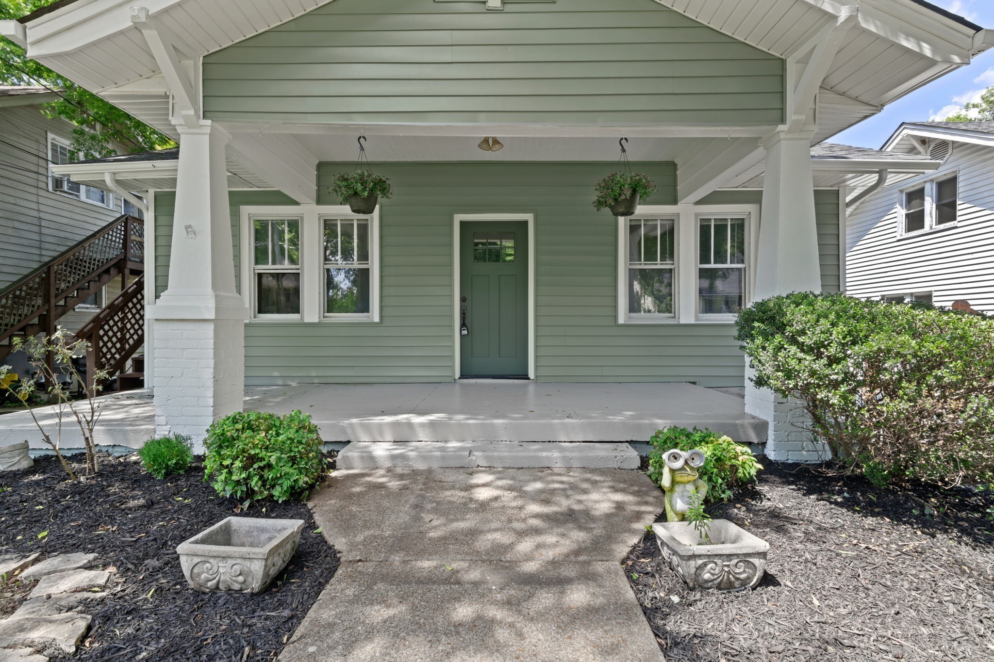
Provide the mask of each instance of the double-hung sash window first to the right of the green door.
POLYGON ((673 318, 676 219, 628 218, 629 320, 673 318))

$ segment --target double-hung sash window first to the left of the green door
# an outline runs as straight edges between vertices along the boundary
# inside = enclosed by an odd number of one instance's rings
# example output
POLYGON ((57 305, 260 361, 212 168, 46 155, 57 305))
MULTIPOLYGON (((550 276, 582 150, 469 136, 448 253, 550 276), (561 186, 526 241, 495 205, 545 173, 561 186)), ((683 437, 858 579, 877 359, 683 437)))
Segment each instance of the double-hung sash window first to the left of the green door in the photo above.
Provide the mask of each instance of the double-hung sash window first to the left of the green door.
POLYGON ((369 218, 324 218, 324 315, 370 317, 369 218))

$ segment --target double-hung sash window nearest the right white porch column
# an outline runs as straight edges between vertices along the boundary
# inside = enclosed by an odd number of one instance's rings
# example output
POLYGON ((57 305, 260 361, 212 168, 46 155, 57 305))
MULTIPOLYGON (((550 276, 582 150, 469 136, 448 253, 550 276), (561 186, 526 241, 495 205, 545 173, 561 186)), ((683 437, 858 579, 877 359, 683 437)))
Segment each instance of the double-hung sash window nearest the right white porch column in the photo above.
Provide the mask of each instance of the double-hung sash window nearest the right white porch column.
POLYGON ((745 304, 745 217, 698 219, 698 315, 736 315, 745 304))

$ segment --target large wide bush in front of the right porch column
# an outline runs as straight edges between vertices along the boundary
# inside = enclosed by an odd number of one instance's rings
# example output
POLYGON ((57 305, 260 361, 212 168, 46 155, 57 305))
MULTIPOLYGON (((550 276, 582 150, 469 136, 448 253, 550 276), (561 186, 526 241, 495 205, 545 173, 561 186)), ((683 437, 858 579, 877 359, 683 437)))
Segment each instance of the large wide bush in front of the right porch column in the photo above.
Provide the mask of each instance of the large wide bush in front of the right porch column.
POLYGON ((994 480, 994 321, 802 292, 737 324, 752 381, 796 398, 843 468, 878 484, 994 480))

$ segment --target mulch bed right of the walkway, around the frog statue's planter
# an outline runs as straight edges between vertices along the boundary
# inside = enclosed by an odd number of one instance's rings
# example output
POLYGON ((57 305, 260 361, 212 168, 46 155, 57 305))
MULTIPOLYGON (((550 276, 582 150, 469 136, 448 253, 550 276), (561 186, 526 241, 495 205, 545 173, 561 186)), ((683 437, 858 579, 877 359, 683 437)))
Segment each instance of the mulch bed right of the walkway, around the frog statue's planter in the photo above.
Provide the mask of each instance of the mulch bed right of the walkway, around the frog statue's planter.
POLYGON ((709 508, 769 542, 754 591, 688 590, 651 535, 624 561, 669 662, 994 660, 994 494, 763 464, 709 508))

